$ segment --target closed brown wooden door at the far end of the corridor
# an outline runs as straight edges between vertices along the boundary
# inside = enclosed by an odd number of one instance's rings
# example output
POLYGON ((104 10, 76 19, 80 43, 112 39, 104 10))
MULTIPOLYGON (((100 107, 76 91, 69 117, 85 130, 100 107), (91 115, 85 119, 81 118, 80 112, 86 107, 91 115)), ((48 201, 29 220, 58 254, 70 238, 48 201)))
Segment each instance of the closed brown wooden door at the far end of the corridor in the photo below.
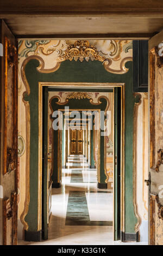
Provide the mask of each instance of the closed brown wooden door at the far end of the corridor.
POLYGON ((83 154, 83 130, 71 130, 71 154, 83 154))

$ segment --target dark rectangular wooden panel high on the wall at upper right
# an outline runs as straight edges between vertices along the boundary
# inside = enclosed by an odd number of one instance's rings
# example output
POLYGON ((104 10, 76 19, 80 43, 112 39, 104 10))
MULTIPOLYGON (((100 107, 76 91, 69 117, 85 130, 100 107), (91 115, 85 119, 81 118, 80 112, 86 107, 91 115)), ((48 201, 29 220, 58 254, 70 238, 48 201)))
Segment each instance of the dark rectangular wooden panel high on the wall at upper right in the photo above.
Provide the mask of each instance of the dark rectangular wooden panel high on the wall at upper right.
POLYGON ((148 40, 133 40, 133 92, 148 92, 148 40))

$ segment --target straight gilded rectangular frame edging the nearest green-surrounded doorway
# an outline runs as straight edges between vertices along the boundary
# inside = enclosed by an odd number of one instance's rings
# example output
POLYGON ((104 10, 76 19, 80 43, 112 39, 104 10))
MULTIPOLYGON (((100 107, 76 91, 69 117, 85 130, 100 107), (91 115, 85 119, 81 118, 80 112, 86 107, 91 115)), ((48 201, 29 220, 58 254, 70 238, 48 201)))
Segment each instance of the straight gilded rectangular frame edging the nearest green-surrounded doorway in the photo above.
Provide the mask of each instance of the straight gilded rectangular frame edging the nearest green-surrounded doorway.
MULTIPOLYGON (((87 87, 96 87, 99 90, 113 89, 115 87, 121 87, 121 232, 125 231, 125 208, 124 208, 124 122, 125 122, 125 83, 93 83, 93 82, 39 82, 39 163, 38 163, 38 227, 41 227, 41 209, 42 209, 42 87, 64 87, 66 89, 73 87, 82 87, 82 90, 85 88, 88 91, 87 87)), ((104 142, 105 147, 106 140, 104 142)), ((104 151, 105 152, 105 151, 104 151)), ((106 153, 105 153, 106 154, 106 153)), ((105 175, 106 175, 106 155, 105 155, 105 175)), ((113 190, 114 191, 114 190, 113 190)), ((114 196, 113 196, 114 200, 114 196)), ((114 216, 114 213, 113 213, 114 216)), ((114 224, 113 224, 114 227, 114 224)))

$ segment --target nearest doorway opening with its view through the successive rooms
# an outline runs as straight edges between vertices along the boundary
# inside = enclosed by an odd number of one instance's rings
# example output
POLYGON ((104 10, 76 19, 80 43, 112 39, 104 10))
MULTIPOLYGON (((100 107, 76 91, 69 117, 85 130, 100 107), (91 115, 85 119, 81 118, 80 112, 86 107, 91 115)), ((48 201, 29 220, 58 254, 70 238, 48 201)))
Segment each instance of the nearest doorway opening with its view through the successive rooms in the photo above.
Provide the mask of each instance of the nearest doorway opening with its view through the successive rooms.
MULTIPOLYGON (((49 112, 48 115, 45 111, 43 113, 45 116, 49 116, 50 114, 48 120, 48 140, 51 141, 51 145, 48 147, 50 147, 51 156, 48 156, 49 160, 47 166, 48 184, 50 184, 50 186, 48 186, 46 192, 45 190, 42 191, 43 196, 47 198, 48 202, 48 223, 45 234, 47 234, 48 230, 49 237, 53 239, 57 234, 60 234, 61 240, 57 239, 57 243, 61 242, 67 234, 66 241, 67 244, 70 244, 77 242, 76 235, 73 236, 72 234, 80 230, 80 234, 83 235, 80 237, 81 240, 78 244, 82 244, 82 240, 85 241, 85 234, 89 230, 90 234, 92 234, 90 235, 90 244, 92 244, 94 236, 96 236, 95 241, 99 243, 97 237, 99 237, 100 233, 106 235, 107 243, 112 243, 114 240, 120 239, 121 216, 123 215, 120 207, 122 195, 121 174, 123 170, 123 168, 121 169, 121 166, 123 166, 122 141, 124 139, 124 129, 122 127, 124 122, 121 121, 124 111, 124 107, 122 108, 122 106, 124 106, 124 84, 97 85, 81 83, 77 85, 67 85, 67 88, 65 87, 66 85, 64 84, 63 90, 61 84, 55 83, 51 85, 40 83, 39 87, 40 91, 45 90, 45 88, 49 90, 49 108, 46 108, 47 110, 49 109, 49 112), (68 90, 70 86, 71 91, 68 90), (85 90, 85 86, 89 86, 87 90, 85 90), (98 91, 96 90, 95 92, 97 86, 98 91), (74 93, 87 95, 87 97, 85 96, 85 103, 87 102, 87 105, 84 105, 83 109, 81 109, 80 103, 83 104, 84 101, 80 98, 76 99, 72 97, 74 93), (98 95, 98 93, 100 97, 98 96, 96 102, 94 102, 93 94, 98 95), (108 97, 106 96, 107 94, 108 97), (63 99, 61 99, 59 95, 63 96, 63 99), (73 98, 73 104, 80 106, 80 109, 72 108, 73 98), (93 104, 91 105, 90 102, 93 102, 93 104), (53 115, 53 112, 56 111, 54 107, 54 105, 57 105, 56 103, 59 103, 57 111, 60 111, 63 119, 60 114, 58 116, 53 115), (88 103, 92 108, 96 106, 96 109, 90 109, 88 103), (101 105, 105 106, 104 119, 102 120, 102 115, 101 119, 98 117, 97 130, 95 130, 94 120, 94 126, 92 123, 91 132, 91 129, 89 130, 89 126, 91 127, 91 124, 89 124, 90 112, 102 111, 99 107, 101 105), (68 107, 68 115, 67 111, 65 111, 66 107, 68 107), (109 110, 109 108, 112 109, 112 113, 110 113, 110 119, 109 122, 107 122, 105 120, 106 114, 108 114, 106 111, 109 110), (85 119, 84 117, 83 119, 80 118, 80 120, 76 118, 76 123, 74 124, 74 118, 72 118, 72 116, 75 116, 75 114, 77 116, 77 111, 80 117, 82 117, 82 112, 89 112, 89 115, 87 115, 85 119), (53 122, 57 120, 57 118, 53 118, 54 116, 59 118, 58 123, 60 122, 63 126, 59 131, 53 129, 53 122), (73 122, 74 129, 70 129, 71 122, 73 122), (66 129, 67 123, 69 125, 68 129, 66 129), (101 135, 102 132, 104 132, 104 127, 107 126, 109 132, 112 133, 111 136, 114 140, 112 143, 109 136, 101 135), (56 140, 56 138, 58 138, 58 140, 56 140), (60 158, 58 158, 58 162, 56 163, 54 159, 57 159, 59 156, 60 158), (54 174, 54 168, 55 177, 52 176, 54 174), (105 177, 104 183, 101 183, 103 176, 105 177), (113 199, 114 197, 115 200, 113 199), (54 229, 55 235, 53 233, 54 229), (109 240, 107 237, 108 232, 109 240)), ((47 100, 44 100, 44 102, 47 103, 47 100)), ((45 104, 43 104, 43 109, 45 110, 45 104)), ((45 120, 47 121, 46 118, 43 118, 43 123, 45 120)), ((56 123, 57 122, 55 122, 55 124, 56 123)), ((45 130, 43 129, 43 131, 45 130)), ((45 148, 44 144, 43 148, 45 148)), ((43 174, 45 173, 44 166, 45 165, 43 165, 42 169, 43 174)), ((45 180, 45 175, 43 175, 43 179, 45 180)), ((45 202, 45 200, 42 200, 42 202, 45 202)), ((42 205, 42 209, 45 209, 45 205, 42 205)), ((43 216, 42 219, 45 220, 45 218, 47 219, 46 216, 43 216)), ((48 236, 46 235, 43 238, 47 239, 48 236)), ((104 243, 106 243, 106 240, 104 240, 104 243)), ((95 244, 97 243, 95 242, 95 244)))

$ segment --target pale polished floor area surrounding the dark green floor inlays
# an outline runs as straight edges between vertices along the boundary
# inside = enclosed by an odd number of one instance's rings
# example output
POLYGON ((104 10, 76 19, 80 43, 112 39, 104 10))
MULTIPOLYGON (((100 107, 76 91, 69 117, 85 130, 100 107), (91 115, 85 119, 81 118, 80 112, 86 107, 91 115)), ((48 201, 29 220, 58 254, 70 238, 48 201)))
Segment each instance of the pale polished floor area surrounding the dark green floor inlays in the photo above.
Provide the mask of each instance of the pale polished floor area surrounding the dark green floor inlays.
POLYGON ((91 222, 112 221, 112 193, 109 189, 97 188, 97 171, 87 167, 78 168, 82 171, 83 182, 76 180, 73 183, 71 182, 72 170, 71 168, 62 169, 61 188, 52 188, 52 215, 49 221, 48 240, 18 241, 18 245, 147 245, 147 243, 114 242, 113 230, 110 226, 65 225, 70 191, 84 192, 91 222))

